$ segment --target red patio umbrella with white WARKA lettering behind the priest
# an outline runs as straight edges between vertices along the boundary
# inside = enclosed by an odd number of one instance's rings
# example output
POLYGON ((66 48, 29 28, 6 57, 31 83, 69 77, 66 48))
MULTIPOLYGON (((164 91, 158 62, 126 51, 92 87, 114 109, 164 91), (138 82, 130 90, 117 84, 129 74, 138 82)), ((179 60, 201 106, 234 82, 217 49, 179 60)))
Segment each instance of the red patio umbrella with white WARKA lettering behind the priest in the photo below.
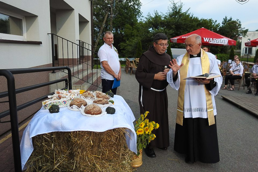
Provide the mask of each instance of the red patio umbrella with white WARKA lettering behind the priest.
POLYGON ((170 38, 170 42, 184 43, 185 39, 191 34, 201 36, 202 45, 236 45, 236 41, 205 28, 197 29, 196 31, 170 38))

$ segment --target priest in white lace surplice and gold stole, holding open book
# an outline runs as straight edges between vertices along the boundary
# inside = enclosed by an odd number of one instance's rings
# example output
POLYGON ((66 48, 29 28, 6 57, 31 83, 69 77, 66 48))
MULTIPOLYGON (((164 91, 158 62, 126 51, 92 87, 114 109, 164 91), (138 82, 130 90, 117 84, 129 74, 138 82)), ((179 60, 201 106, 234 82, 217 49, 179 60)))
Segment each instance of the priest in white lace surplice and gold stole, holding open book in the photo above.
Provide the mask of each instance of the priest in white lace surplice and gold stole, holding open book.
POLYGON ((173 59, 167 73, 167 82, 178 90, 174 150, 186 154, 187 163, 216 163, 219 145, 214 96, 219 92, 222 76, 184 80, 205 73, 220 75, 215 56, 201 49, 201 36, 188 36, 185 47, 187 53, 173 59))

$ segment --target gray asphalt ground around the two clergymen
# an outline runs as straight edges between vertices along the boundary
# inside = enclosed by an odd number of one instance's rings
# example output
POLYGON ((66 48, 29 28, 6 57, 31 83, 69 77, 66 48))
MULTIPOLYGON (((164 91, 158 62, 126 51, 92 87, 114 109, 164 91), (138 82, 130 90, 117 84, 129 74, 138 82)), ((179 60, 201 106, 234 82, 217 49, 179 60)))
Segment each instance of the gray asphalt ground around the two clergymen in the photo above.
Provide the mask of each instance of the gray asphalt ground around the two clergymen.
MULTIPOLYGON (((224 86, 224 85, 223 85, 224 86)), ((130 75, 122 69, 120 87, 117 95, 121 95, 137 119, 140 115, 138 104, 139 84, 135 75, 130 75)), ((258 118, 251 113, 239 109, 237 106, 222 100, 221 95, 238 95, 254 98, 257 102, 258 96, 247 95, 243 87, 238 91, 220 90, 215 97, 217 107, 217 130, 219 138, 220 162, 216 164, 204 164, 196 162, 187 164, 184 155, 173 150, 175 118, 178 92, 170 86, 167 87, 169 102, 169 132, 170 147, 167 151, 154 149, 156 158, 149 158, 143 153, 143 165, 136 169, 138 172, 168 172, 168 171, 257 171, 258 169, 258 118)))

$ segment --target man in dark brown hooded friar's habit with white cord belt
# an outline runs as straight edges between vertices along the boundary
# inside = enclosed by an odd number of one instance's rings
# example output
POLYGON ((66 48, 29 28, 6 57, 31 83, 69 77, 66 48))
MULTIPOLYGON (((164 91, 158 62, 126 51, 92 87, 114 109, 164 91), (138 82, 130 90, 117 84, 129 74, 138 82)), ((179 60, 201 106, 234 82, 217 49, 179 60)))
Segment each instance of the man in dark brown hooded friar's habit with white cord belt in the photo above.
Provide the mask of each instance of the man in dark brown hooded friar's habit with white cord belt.
POLYGON ((140 112, 149 111, 147 118, 160 124, 157 130, 153 130, 156 138, 145 148, 147 156, 154 158, 153 150, 158 147, 167 150, 169 147, 168 128, 168 101, 167 101, 167 72, 171 61, 170 55, 165 53, 168 43, 165 34, 159 33, 153 37, 153 45, 144 52, 139 59, 135 78, 140 84, 139 105, 140 112))

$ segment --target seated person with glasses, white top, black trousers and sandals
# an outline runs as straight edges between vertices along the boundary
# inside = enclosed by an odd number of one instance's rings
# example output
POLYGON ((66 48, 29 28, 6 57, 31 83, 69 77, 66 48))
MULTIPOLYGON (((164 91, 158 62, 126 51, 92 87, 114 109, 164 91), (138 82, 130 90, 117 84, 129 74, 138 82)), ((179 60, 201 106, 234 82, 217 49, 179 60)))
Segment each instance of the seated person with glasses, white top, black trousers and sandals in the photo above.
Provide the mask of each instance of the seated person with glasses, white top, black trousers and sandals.
POLYGON ((236 66, 233 66, 229 70, 230 74, 225 76, 225 86, 222 89, 227 89, 228 80, 230 80, 231 88, 228 89, 228 90, 230 90, 230 91, 235 90, 235 86, 234 86, 235 80, 238 80, 238 79, 242 78, 244 67, 240 64, 239 58, 235 58, 234 61, 236 63, 236 66))

